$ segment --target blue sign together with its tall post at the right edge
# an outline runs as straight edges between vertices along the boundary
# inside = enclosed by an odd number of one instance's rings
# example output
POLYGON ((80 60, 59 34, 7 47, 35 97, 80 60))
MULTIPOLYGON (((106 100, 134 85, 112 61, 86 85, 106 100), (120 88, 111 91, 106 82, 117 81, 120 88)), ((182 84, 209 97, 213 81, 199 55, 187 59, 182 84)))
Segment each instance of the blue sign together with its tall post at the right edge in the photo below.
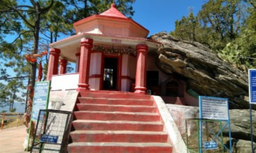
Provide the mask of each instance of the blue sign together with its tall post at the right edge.
POLYGON ((252 153, 254 153, 253 147, 253 130, 252 130, 252 104, 256 104, 256 69, 248 70, 249 77, 249 102, 250 102, 250 126, 251 126, 251 145, 252 153))

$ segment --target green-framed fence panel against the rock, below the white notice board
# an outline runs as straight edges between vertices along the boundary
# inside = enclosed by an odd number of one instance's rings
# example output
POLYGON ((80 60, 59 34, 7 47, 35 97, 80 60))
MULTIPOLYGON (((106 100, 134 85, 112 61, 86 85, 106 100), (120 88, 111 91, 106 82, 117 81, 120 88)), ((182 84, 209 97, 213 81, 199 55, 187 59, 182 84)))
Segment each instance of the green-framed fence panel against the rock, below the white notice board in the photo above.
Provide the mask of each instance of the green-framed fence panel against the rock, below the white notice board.
POLYGON ((229 153, 224 144, 229 138, 223 137, 222 128, 226 124, 224 121, 208 119, 186 119, 186 144, 189 153, 229 153), (200 126, 202 134, 200 134, 200 126), (200 137, 202 140, 200 141, 200 137), (217 147, 206 148, 204 143, 217 142, 217 147))

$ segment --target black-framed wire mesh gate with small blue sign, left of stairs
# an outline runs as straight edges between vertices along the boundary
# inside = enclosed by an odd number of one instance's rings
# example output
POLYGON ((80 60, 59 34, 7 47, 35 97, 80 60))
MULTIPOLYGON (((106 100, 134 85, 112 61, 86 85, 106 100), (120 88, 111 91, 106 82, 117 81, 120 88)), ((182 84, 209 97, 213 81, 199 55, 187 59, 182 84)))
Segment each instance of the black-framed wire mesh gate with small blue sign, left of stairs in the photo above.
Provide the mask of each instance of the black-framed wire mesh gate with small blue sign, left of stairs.
POLYGON ((65 153, 72 112, 40 110, 30 153, 65 153))

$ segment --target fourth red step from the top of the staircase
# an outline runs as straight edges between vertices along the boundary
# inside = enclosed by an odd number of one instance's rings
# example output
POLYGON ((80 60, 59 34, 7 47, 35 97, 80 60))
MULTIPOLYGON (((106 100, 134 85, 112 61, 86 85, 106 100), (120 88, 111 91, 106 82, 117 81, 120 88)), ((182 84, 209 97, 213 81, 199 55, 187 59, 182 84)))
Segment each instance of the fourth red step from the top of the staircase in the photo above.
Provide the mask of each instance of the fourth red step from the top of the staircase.
POLYGON ((101 121, 142 121, 157 122, 160 116, 156 113, 120 112, 120 111, 75 111, 75 119, 101 120, 101 121))

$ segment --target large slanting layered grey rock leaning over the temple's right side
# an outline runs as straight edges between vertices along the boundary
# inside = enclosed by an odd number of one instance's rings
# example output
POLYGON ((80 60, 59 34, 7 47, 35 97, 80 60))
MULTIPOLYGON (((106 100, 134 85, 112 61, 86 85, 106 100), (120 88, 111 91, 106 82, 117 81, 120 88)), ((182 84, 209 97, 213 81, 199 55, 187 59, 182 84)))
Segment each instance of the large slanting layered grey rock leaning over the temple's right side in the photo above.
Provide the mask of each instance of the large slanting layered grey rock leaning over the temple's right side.
MULTIPOLYGON (((209 48, 186 42, 166 33, 152 35, 160 42, 158 67, 168 74, 181 76, 187 87, 199 95, 229 98, 230 109, 248 109, 248 75, 218 58, 209 48)), ((256 107, 254 107, 256 108, 256 107)))

